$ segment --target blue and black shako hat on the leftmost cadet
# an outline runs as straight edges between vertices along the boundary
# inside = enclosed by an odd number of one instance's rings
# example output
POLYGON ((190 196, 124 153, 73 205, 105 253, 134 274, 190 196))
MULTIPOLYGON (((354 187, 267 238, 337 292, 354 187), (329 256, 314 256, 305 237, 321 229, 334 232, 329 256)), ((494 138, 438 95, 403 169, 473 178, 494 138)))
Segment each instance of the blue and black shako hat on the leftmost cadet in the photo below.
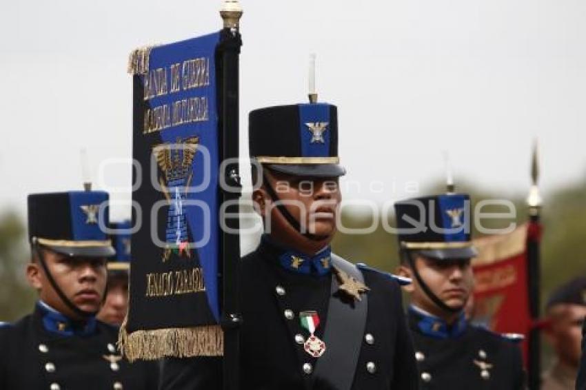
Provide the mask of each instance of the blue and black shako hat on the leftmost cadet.
POLYGON ((30 243, 68 256, 112 256, 112 241, 102 231, 108 226, 107 205, 108 193, 103 191, 30 194, 30 243), (101 212, 100 207, 105 209, 101 212))

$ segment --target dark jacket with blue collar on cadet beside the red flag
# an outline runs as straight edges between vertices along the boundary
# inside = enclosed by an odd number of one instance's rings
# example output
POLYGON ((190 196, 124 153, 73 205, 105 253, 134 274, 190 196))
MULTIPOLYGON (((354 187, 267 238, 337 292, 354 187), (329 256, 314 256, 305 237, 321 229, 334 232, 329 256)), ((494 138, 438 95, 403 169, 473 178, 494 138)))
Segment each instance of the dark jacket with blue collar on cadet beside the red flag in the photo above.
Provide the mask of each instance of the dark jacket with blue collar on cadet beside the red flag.
POLYGON ((421 389, 523 389, 521 350, 461 318, 452 327, 411 307, 409 323, 421 389))

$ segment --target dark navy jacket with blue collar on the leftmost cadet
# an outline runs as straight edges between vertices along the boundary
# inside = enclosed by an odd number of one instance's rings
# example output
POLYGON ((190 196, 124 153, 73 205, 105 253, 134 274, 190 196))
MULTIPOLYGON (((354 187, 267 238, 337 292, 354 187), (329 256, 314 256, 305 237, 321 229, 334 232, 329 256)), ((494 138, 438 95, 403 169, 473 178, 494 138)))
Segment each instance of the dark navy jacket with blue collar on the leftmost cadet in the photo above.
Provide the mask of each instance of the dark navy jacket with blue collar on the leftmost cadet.
POLYGON ((157 389, 156 362, 130 365, 117 338, 115 327, 94 319, 77 325, 39 302, 29 316, 0 327, 0 389, 157 389))

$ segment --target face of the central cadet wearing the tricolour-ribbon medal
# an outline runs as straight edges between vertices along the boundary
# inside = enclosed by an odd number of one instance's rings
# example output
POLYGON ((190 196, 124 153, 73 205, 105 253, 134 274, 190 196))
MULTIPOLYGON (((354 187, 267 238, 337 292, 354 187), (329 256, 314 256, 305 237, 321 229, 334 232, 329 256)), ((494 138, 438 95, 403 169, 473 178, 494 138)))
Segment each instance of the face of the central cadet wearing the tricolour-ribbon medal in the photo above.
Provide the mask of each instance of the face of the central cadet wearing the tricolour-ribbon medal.
POLYGON ((338 178, 308 178, 268 170, 265 170, 265 176, 293 218, 307 227, 308 233, 321 239, 311 240, 299 234, 261 187, 254 192, 253 199, 265 217, 269 234, 307 254, 313 254, 330 243, 336 232, 341 201, 338 178))

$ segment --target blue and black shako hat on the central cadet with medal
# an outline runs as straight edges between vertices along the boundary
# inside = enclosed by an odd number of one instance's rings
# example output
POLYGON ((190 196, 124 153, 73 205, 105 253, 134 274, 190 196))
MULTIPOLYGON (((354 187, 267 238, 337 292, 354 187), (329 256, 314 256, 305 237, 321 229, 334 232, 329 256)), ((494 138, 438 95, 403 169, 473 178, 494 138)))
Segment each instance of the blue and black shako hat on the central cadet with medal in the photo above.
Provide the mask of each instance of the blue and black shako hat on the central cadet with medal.
POLYGON ((271 170, 309 177, 346 173, 339 165, 338 110, 327 103, 266 107, 250 112, 250 157, 271 170))

